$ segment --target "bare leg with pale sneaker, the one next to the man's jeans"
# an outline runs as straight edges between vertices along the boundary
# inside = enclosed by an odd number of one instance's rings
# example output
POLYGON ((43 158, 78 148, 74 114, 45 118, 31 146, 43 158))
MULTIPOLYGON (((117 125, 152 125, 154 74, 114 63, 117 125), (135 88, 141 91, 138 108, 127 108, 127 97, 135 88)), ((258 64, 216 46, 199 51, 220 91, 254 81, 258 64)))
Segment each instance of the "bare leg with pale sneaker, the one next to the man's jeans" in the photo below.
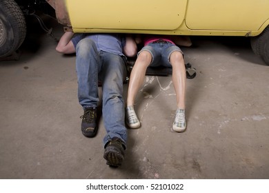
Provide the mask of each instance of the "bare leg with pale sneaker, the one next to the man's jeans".
POLYGON ((135 96, 137 96, 137 92, 139 91, 139 88, 141 88, 145 79, 146 70, 151 61, 152 55, 150 52, 146 50, 141 51, 130 74, 126 104, 126 123, 130 128, 135 129, 140 127, 140 121, 134 110, 135 96))

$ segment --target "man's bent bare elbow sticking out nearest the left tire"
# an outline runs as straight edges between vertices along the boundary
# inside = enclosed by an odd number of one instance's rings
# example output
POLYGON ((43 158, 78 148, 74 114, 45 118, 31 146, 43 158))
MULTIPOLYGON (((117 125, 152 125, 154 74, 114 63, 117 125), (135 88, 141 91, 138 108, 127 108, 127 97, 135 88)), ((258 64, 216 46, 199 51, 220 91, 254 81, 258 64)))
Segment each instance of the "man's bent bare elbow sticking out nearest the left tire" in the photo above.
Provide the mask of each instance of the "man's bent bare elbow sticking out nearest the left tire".
POLYGON ((74 44, 71 41, 73 35, 73 32, 65 32, 63 34, 56 47, 57 52, 60 52, 62 54, 73 54, 74 52, 76 52, 74 44))

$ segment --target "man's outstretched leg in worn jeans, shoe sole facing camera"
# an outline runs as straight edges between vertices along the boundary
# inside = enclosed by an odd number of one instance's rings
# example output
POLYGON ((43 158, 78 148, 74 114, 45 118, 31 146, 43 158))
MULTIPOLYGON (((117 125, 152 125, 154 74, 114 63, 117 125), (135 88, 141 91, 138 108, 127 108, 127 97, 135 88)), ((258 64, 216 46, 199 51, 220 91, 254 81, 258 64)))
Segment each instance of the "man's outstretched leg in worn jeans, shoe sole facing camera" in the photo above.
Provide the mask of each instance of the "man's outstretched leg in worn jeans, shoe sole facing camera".
POLYGON ((118 55, 101 52, 103 86, 103 139, 107 164, 117 167, 124 159, 127 130, 124 123, 123 80, 126 77, 125 61, 118 55))

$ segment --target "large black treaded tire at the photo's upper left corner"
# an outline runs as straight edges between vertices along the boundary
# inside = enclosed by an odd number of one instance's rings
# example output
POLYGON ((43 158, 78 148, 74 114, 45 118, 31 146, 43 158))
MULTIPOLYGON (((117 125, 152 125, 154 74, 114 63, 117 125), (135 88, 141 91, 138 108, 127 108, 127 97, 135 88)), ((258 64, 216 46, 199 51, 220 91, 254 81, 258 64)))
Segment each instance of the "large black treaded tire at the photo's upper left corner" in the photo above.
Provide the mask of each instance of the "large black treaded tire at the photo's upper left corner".
POLYGON ((0 0, 0 16, 0 57, 6 57, 26 38, 26 21, 14 0, 0 0))

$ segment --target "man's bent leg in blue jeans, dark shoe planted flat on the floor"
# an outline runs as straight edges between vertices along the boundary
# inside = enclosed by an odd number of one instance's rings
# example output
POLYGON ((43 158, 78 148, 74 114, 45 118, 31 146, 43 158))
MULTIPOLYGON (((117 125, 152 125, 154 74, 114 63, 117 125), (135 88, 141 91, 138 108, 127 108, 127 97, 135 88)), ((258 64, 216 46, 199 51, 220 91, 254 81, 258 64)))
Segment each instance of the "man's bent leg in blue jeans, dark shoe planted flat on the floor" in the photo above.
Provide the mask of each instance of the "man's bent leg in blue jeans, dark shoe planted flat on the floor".
POLYGON ((97 133, 98 72, 99 54, 94 42, 82 39, 76 48, 76 70, 79 103, 83 107, 81 132, 84 136, 95 136, 97 133))

